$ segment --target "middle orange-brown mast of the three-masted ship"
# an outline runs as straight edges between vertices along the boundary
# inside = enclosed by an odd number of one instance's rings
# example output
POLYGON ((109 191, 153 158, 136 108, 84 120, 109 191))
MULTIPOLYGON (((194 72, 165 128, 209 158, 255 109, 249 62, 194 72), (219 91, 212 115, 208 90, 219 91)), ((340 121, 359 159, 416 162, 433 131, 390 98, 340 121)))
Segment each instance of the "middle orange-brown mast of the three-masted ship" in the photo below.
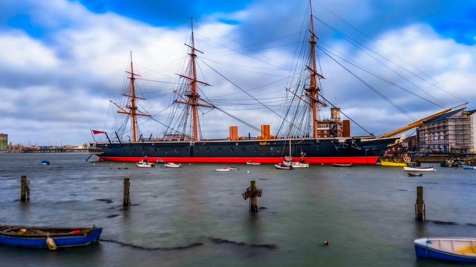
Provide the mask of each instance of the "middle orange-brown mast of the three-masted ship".
POLYGON ((175 102, 185 104, 185 105, 189 105, 189 106, 192 107, 192 137, 193 137, 194 141, 199 141, 200 137, 198 135, 198 129, 199 129, 198 107, 211 107, 211 108, 213 108, 214 106, 198 103, 198 99, 200 98, 200 95, 198 94, 197 83, 199 83, 201 85, 206 85, 206 86, 209 86, 209 84, 197 80, 197 63, 196 63, 197 54, 196 54, 196 52, 199 52, 199 53, 203 53, 203 52, 201 52, 201 51, 199 51, 198 49, 195 48, 195 38, 194 38, 194 31, 193 31, 193 18, 191 19, 191 28, 192 28, 192 36, 190 38, 190 44, 189 45, 184 44, 184 45, 186 45, 190 48, 190 53, 189 53, 189 55, 190 55, 189 67, 190 68, 188 70, 188 76, 177 74, 180 77, 190 81, 189 91, 185 94, 185 96, 187 97, 187 101, 176 100, 175 102))

